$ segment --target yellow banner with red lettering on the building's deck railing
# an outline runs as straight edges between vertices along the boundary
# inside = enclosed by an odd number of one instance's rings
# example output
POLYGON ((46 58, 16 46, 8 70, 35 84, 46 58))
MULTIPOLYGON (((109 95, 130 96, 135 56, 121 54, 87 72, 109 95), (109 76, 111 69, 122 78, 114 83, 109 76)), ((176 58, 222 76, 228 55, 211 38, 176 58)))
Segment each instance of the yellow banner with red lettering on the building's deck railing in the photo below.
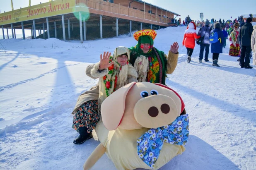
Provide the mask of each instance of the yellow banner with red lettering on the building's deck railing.
POLYGON ((75 12, 75 0, 55 0, 0 14, 0 25, 75 12))

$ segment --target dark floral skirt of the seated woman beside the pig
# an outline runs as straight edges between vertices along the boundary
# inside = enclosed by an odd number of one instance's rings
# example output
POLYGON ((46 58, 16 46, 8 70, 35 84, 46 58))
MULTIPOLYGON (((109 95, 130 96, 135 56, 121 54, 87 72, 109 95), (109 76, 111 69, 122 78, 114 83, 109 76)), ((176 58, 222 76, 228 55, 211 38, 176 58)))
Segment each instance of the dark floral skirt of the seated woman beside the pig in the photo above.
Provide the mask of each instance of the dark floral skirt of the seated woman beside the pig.
POLYGON ((98 122, 98 100, 92 100, 77 109, 77 113, 73 117, 72 128, 79 132, 79 127, 87 127, 87 133, 91 133, 98 122))

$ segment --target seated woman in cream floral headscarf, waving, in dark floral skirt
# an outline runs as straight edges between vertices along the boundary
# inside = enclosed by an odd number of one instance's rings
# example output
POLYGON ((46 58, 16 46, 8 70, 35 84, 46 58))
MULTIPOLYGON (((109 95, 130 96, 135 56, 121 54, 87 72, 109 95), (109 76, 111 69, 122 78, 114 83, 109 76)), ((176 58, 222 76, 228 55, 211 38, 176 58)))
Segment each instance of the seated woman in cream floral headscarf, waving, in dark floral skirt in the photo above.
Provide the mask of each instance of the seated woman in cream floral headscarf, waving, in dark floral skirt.
POLYGON ((74 144, 82 144, 92 138, 92 130, 100 120, 101 103, 114 91, 122 86, 137 81, 137 72, 129 64, 130 53, 126 47, 117 47, 114 55, 104 52, 100 55, 100 62, 89 65, 86 69, 87 76, 97 79, 97 86, 78 97, 77 104, 72 114, 72 127, 79 132, 74 144))

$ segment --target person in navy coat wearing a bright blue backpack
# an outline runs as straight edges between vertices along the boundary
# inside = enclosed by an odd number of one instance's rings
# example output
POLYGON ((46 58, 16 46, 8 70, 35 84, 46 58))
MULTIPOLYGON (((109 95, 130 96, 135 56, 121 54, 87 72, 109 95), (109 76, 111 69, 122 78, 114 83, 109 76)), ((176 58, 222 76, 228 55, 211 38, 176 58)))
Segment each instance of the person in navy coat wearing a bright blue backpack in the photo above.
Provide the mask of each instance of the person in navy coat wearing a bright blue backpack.
POLYGON ((222 53, 222 45, 224 44, 224 35, 222 33, 221 25, 219 22, 216 22, 214 24, 214 30, 213 33, 217 32, 218 34, 218 41, 216 43, 212 43, 211 50, 213 53, 213 66, 220 67, 218 65, 219 55, 222 53))

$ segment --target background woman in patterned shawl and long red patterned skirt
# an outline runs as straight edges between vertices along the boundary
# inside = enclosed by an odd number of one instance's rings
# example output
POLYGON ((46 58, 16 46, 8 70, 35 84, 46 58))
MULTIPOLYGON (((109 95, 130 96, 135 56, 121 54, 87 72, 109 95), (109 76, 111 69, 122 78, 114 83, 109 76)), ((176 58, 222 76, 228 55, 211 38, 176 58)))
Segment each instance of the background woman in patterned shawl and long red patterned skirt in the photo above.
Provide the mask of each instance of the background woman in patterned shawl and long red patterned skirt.
POLYGON ((237 57, 239 55, 240 51, 240 45, 239 45, 239 23, 234 24, 234 31, 231 32, 229 36, 229 41, 231 41, 230 47, 229 47, 229 55, 237 57))

